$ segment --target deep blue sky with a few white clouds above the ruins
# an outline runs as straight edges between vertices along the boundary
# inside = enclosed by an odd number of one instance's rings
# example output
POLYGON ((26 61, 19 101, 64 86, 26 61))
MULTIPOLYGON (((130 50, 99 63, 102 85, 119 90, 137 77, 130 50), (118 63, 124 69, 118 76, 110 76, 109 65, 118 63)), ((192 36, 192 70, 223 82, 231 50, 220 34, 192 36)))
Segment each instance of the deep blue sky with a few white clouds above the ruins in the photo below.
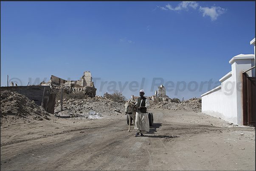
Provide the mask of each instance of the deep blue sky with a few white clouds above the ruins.
POLYGON ((255 1, 1 1, 1 86, 90 71, 100 96, 200 98, 254 37, 255 1))

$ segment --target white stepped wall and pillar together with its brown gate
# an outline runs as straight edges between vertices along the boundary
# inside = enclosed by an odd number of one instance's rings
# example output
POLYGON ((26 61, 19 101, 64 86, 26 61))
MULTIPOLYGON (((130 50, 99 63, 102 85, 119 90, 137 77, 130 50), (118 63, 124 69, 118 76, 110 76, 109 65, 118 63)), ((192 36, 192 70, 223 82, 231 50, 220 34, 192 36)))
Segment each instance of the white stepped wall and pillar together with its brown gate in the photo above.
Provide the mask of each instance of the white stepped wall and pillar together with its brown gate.
POLYGON ((234 56, 229 61, 231 71, 219 79, 221 85, 201 95, 203 113, 236 125, 255 126, 255 38, 250 45, 254 45, 254 54, 234 56), (246 79, 252 80, 250 90, 246 79))

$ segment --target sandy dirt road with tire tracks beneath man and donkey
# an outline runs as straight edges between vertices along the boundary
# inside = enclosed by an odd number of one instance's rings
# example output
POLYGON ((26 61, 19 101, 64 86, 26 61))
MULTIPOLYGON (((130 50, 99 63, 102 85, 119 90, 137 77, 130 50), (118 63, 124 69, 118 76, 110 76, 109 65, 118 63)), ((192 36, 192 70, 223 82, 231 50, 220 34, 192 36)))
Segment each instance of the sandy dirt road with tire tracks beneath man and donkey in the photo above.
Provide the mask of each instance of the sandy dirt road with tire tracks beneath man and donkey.
POLYGON ((201 112, 150 110, 144 137, 126 115, 1 126, 1 170, 255 170, 255 127, 201 112))

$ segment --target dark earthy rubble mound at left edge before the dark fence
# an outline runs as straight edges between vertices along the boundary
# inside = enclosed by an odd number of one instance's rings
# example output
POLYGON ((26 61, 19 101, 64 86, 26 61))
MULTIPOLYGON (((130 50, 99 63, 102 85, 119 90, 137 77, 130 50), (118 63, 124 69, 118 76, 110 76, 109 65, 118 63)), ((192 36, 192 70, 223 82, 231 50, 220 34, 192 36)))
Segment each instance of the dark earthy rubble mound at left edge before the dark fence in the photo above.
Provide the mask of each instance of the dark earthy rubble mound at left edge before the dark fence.
POLYGON ((3 91, 1 92, 1 118, 13 115, 13 117, 33 117, 37 120, 49 118, 48 112, 41 106, 34 104, 25 95, 17 92, 3 91))

